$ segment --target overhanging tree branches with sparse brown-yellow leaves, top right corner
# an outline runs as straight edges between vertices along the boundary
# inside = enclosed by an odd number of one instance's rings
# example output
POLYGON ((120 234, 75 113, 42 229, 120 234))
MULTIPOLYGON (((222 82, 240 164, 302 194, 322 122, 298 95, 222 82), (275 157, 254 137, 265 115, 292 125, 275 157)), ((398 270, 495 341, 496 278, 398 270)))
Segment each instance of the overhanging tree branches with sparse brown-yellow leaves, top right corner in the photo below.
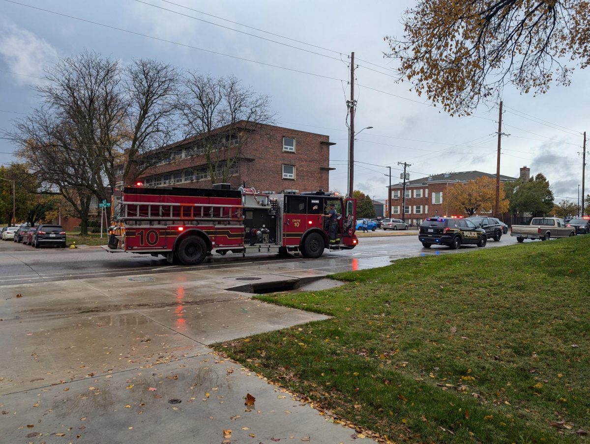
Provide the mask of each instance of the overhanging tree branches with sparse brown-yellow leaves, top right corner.
POLYGON ((470 114, 506 84, 535 94, 569 85, 573 67, 590 64, 588 11, 588 0, 419 0, 385 55, 419 95, 470 114))

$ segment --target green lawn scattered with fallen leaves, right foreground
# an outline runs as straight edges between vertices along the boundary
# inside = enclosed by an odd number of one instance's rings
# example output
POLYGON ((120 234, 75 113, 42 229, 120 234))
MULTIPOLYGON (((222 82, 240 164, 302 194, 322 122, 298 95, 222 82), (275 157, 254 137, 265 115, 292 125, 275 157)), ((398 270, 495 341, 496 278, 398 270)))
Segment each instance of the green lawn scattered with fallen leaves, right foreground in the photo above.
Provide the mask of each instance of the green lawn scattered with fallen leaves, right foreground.
POLYGON ((590 236, 333 278, 258 297, 332 319, 215 348, 394 442, 585 440, 590 236))

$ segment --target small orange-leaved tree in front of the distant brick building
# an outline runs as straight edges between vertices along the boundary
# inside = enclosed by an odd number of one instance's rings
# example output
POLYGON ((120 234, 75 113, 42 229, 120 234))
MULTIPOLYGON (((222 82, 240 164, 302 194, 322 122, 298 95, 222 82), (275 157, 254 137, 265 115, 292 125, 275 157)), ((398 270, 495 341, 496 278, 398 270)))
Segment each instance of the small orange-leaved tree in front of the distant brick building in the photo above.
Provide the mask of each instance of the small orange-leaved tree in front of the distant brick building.
MULTIPOLYGON (((449 187, 447 192, 448 206, 467 213, 489 213, 496 205, 496 179, 481 176, 465 183, 457 183, 449 187)), ((508 200, 504 197, 503 186, 500 186, 500 213, 508 209, 508 200)))

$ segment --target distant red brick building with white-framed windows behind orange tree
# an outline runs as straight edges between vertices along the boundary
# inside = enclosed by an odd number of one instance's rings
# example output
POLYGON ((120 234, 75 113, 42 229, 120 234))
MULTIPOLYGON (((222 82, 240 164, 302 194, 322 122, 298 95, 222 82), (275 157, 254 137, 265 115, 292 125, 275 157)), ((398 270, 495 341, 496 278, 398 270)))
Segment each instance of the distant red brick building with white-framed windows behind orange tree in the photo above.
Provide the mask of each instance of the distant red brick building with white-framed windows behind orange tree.
MULTIPOLYGON (((463 215, 463 209, 448 206, 448 201, 446 200, 448 189, 457 183, 466 183, 481 176, 496 179, 495 174, 483 173, 481 171, 464 171, 409 180, 406 182, 405 190, 405 221, 417 225, 429 216, 463 215)), ((530 168, 526 166, 522 167, 520 169, 520 179, 528 180, 529 177, 530 168)), ((500 175, 500 182, 508 182, 516 179, 516 177, 500 175)), ((391 193, 389 205, 391 205, 392 218, 402 218, 402 202, 404 202, 402 198, 403 189, 404 184, 401 182, 392 185, 389 189, 391 193)))

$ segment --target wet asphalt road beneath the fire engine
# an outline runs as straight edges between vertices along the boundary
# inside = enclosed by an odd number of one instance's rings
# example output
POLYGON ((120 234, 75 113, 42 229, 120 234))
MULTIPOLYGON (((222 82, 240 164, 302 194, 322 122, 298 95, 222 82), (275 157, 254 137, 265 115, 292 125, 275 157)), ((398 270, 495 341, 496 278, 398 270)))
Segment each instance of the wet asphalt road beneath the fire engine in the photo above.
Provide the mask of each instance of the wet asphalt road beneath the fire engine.
MULTIPOLYGON (((362 235, 361 235, 362 236, 362 235)), ((516 243, 516 238, 502 236, 500 242, 488 241, 486 248, 516 243)), ((60 249, 34 249, 14 242, 0 242, 0 285, 61 281, 94 277, 114 277, 135 274, 159 274, 182 269, 217 269, 253 265, 281 265, 293 269, 316 269, 340 272, 388 265, 395 259, 417 255, 457 254, 476 250, 476 246, 463 246, 459 251, 433 246, 424 249, 417 233, 360 237, 359 246, 348 251, 325 252, 321 258, 305 259, 291 255, 281 258, 276 254, 255 254, 242 258, 240 254, 209 256, 194 267, 169 265, 163 258, 129 253, 110 254, 98 247, 60 249)), ((499 254, 500 251, 499 251, 499 254)))

